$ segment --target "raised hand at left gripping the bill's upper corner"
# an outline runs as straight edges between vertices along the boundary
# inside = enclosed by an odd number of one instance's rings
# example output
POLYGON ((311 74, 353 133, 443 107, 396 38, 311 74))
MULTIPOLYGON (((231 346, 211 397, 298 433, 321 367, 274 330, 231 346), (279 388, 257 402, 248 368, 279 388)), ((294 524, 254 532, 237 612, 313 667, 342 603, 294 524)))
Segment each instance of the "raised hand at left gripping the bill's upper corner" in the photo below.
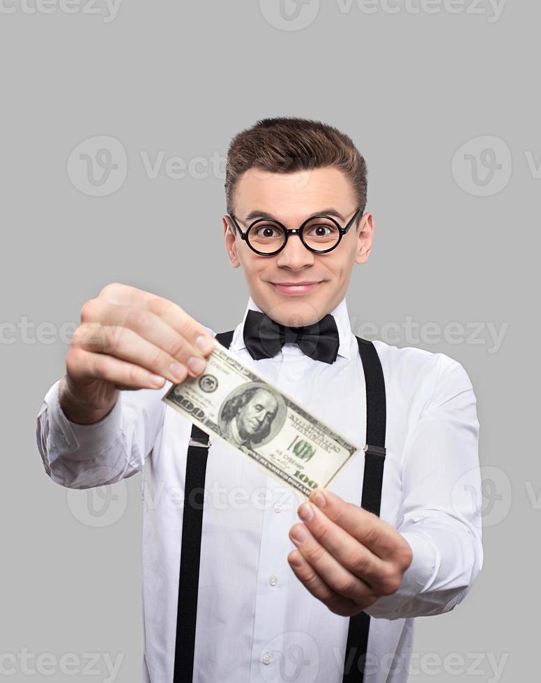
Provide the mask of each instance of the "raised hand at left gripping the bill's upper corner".
POLYGON ((81 309, 60 385, 61 408, 72 422, 98 422, 119 390, 159 389, 166 379, 178 384, 196 377, 213 348, 204 326, 172 301, 108 284, 81 309))

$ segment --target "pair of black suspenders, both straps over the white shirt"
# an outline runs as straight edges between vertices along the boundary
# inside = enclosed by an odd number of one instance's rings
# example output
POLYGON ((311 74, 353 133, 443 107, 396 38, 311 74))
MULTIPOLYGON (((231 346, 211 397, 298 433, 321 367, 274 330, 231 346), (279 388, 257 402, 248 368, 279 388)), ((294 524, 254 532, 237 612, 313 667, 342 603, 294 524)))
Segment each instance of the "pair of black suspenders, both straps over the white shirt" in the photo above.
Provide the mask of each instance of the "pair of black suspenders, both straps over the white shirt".
MULTIPOLYGON (((234 330, 216 335, 229 348, 234 330)), ((365 473, 361 507, 379 515, 385 463, 386 395, 383 370, 372 342, 356 337, 366 383, 365 473)), ((173 683, 193 683, 195 624, 203 500, 208 457, 208 434, 195 424, 188 446, 182 523, 181 569, 178 577, 178 608, 173 683)), ((361 612, 349 618, 342 683, 362 683, 370 617, 361 612)))

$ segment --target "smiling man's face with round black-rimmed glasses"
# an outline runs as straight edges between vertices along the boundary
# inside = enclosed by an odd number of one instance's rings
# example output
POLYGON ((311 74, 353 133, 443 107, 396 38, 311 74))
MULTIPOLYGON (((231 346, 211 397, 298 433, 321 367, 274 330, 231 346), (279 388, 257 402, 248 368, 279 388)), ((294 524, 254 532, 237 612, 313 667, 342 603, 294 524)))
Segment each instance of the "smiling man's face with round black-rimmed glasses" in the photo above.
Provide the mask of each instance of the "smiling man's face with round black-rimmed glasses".
MULTIPOLYGON (((349 179, 334 167, 271 173, 250 169, 241 176, 234 198, 234 215, 243 232, 259 215, 271 215, 287 228, 298 228, 310 216, 333 208, 345 227, 358 206, 349 179)), ((224 236, 231 266, 242 266, 250 296, 273 320, 298 327, 317 322, 342 300, 353 263, 365 263, 372 246, 374 224, 365 213, 360 228, 353 224, 335 250, 315 254, 306 249, 298 234, 290 235, 279 254, 261 256, 248 247, 227 216, 224 236), (279 289, 277 284, 317 283, 305 291, 279 289)))

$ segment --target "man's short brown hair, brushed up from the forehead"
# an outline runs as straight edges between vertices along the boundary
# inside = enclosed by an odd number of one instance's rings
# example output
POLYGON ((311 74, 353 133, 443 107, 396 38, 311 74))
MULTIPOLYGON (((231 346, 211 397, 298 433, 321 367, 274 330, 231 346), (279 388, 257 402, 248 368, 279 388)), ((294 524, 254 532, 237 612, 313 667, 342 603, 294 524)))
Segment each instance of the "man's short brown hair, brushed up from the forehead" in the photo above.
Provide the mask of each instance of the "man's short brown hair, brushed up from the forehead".
POLYGON ((293 173, 332 166, 349 178, 358 206, 366 206, 367 168, 351 138, 333 126, 307 118, 263 118, 238 133, 229 144, 225 170, 227 213, 233 213, 236 185, 245 171, 257 168, 293 173))

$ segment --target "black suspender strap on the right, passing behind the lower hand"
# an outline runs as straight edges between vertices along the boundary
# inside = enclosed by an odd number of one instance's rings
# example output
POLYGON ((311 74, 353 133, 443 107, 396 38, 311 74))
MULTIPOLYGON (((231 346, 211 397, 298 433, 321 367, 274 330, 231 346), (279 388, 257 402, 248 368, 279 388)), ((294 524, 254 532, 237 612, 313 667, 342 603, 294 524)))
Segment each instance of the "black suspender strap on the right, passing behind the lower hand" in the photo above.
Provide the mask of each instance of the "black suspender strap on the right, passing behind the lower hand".
MULTIPOLYGON (((360 507, 379 516, 385 464, 386 395, 383 369, 372 342, 357 337, 366 384, 366 445, 363 496, 360 507)), ((349 617, 342 683, 363 683, 368 649, 370 616, 349 617)))

